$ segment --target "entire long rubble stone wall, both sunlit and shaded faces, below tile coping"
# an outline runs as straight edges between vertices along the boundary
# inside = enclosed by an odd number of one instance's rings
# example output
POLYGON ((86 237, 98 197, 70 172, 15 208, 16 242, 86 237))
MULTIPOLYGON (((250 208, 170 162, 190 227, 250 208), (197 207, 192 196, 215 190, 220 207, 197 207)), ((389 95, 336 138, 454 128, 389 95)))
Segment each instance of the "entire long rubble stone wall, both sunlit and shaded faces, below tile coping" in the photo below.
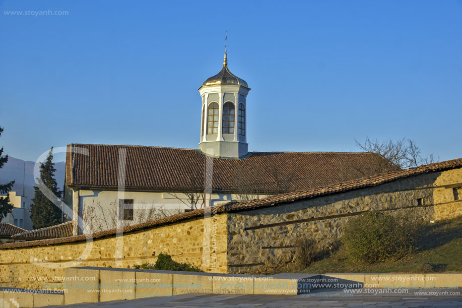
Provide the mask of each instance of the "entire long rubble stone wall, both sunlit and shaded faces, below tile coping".
POLYGON ((123 236, 121 255, 115 253, 120 244, 120 237, 115 236, 91 244, 0 249, 0 286, 43 289, 43 280, 61 282, 66 267, 133 268, 154 263, 161 252, 207 272, 279 271, 294 261, 299 238, 314 238, 320 246, 329 247, 342 234, 348 219, 364 211, 409 212, 429 221, 461 215, 462 202, 455 200, 453 191, 461 184, 462 168, 458 168, 268 208, 143 229, 123 236), (87 247, 88 256, 83 255, 87 247), (34 258, 50 264, 36 264, 34 258), (78 258, 82 261, 71 262, 78 258))

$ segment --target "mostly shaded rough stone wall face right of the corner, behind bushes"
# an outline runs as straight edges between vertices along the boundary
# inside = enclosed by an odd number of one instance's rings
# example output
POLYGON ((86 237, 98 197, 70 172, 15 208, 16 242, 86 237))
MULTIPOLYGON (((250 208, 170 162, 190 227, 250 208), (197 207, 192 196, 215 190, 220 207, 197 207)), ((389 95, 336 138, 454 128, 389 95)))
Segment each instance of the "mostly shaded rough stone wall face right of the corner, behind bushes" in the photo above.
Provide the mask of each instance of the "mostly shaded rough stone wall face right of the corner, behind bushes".
POLYGON ((462 215, 453 186, 462 169, 433 172, 376 187, 318 197, 228 216, 230 273, 276 272, 296 261, 297 240, 313 238, 328 249, 352 217, 363 211, 411 213, 427 221, 462 215), (419 201, 420 200, 420 201, 419 201))

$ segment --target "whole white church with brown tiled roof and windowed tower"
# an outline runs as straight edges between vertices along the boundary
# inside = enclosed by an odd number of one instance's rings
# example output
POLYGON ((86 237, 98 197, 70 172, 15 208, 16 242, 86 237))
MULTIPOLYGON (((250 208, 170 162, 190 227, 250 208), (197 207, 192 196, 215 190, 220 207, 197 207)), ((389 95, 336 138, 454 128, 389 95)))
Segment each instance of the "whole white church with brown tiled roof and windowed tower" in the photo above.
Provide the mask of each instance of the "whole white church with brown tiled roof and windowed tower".
POLYGON ((249 91, 225 51, 221 71, 199 88, 197 149, 69 144, 64 202, 74 235, 398 170, 373 153, 249 152, 249 91))

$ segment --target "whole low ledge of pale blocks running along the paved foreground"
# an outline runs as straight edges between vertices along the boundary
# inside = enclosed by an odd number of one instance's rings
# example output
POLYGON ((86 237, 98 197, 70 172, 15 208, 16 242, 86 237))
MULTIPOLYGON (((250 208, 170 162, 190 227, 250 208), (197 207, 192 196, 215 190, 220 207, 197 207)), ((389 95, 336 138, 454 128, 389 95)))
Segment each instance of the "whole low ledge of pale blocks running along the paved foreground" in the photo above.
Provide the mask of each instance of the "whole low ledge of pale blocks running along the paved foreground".
POLYGON ((0 287, 0 308, 75 304, 185 293, 297 295, 319 288, 457 288, 462 273, 281 273, 272 276, 154 271, 99 267, 64 270, 64 291, 0 287), (6 301, 7 300, 7 301, 6 301))

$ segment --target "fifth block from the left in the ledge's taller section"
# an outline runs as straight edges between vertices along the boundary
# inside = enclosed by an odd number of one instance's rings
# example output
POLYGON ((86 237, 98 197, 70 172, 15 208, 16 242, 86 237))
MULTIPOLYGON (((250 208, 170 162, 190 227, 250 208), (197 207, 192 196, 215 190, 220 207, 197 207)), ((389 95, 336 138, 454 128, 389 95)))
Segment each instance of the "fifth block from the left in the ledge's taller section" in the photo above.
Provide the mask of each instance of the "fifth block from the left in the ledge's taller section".
POLYGON ((253 294, 252 276, 214 276, 212 281, 214 294, 253 294))

